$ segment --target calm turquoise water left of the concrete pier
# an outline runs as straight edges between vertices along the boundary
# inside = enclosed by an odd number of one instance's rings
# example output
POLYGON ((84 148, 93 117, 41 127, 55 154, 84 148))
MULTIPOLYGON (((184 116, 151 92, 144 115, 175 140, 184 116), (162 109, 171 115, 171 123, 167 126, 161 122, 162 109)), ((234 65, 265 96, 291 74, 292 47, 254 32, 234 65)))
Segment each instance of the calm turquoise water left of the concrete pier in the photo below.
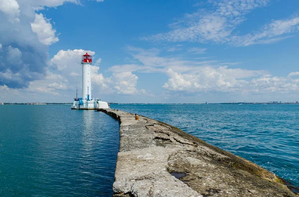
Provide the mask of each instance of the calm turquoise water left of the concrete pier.
POLYGON ((0 197, 112 196, 119 123, 70 106, 0 106, 0 197))

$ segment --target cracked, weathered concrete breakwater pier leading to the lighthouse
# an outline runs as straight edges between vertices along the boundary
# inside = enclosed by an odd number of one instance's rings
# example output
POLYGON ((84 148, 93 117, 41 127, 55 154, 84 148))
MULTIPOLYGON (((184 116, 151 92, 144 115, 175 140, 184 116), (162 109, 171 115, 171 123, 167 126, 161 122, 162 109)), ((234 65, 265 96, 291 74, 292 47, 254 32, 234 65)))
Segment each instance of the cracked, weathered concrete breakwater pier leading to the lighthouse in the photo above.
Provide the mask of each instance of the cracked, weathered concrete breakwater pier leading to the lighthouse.
POLYGON ((165 123, 98 109, 120 122, 114 197, 296 197, 264 168, 165 123))

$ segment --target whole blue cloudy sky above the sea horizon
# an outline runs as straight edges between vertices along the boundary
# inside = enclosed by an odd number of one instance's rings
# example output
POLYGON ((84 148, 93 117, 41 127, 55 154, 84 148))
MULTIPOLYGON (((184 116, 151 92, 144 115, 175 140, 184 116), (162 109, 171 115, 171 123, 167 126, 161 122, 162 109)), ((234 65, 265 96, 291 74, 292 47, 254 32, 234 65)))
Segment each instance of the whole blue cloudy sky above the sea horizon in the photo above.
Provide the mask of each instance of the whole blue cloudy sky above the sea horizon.
POLYGON ((299 101, 299 0, 0 0, 0 102, 299 101))

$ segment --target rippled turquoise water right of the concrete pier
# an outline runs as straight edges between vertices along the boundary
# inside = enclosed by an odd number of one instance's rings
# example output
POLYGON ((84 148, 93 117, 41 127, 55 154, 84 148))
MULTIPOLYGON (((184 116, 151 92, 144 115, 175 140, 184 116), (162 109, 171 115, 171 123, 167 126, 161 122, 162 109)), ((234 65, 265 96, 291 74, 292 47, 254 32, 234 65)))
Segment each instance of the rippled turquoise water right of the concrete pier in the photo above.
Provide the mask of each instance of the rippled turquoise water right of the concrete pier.
POLYGON ((112 105, 195 135, 299 186, 299 105, 112 105))

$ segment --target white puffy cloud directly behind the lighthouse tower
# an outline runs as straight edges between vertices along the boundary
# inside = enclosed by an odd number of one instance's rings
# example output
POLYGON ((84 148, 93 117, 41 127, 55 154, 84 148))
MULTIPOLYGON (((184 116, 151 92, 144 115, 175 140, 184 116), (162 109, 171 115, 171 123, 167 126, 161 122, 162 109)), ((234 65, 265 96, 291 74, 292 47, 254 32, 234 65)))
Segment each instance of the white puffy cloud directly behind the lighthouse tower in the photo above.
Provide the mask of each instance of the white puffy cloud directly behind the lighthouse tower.
MULTIPOLYGON (((58 72, 62 78, 67 79, 67 82, 62 81, 61 78, 56 78, 51 82, 52 85, 47 88, 55 88, 62 90, 64 85, 73 89, 81 89, 82 87, 82 66, 80 65, 81 56, 85 53, 94 56, 95 52, 85 51, 82 49, 75 50, 60 50, 48 62, 52 72, 58 72), (54 87, 55 86, 55 87, 54 87), (58 87, 58 88, 57 88, 58 87)), ((108 94, 139 94, 136 89, 138 77, 131 71, 118 71, 112 73, 111 76, 104 76, 100 73, 100 63, 102 59, 93 59, 95 64, 92 66, 92 88, 93 93, 108 93, 108 94)), ((103 71, 103 70, 102 70, 103 71)), ((48 89, 49 90, 49 89, 48 89)))

